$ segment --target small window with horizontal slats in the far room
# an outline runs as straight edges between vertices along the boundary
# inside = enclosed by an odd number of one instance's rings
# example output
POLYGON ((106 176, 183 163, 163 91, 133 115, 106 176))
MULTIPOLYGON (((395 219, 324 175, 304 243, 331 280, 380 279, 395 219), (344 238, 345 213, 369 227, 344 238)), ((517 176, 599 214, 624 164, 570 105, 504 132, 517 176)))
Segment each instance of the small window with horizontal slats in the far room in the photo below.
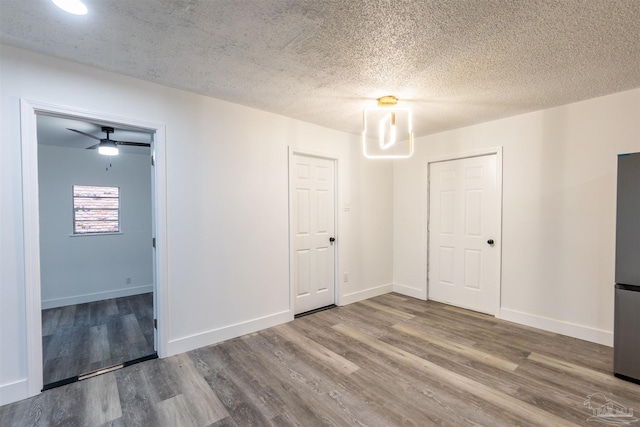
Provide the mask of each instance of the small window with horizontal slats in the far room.
POLYGON ((73 186, 73 234, 118 233, 120 188, 73 186))

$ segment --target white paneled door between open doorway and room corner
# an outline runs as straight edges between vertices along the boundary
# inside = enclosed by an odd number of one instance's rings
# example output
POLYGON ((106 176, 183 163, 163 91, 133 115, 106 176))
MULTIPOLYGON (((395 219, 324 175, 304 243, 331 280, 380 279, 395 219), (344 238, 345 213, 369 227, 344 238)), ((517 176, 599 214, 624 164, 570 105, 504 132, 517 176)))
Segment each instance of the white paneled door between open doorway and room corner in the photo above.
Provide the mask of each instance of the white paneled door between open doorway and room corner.
POLYGON ((294 313, 335 303, 335 162, 293 155, 291 280, 294 313))

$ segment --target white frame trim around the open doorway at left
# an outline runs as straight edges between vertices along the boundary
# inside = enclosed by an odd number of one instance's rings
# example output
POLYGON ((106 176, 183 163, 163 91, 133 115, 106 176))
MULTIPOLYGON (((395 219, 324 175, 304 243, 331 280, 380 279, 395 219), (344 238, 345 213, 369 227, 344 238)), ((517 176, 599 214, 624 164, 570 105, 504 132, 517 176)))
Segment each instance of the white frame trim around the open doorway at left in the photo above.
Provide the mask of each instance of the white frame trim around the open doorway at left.
MULTIPOLYGON (((42 301, 40 281, 40 212, 38 200, 38 135, 37 115, 98 121, 105 125, 127 126, 155 132, 151 152, 155 166, 153 215, 156 238, 155 283, 158 318, 157 352, 167 355, 167 185, 166 185, 166 132, 159 122, 132 119, 102 112, 57 104, 20 99, 20 139, 22 149, 22 215, 24 238, 24 282, 27 352, 27 393, 39 394, 43 386, 42 366, 42 301)), ((151 245, 151 242, 149 242, 151 245)))

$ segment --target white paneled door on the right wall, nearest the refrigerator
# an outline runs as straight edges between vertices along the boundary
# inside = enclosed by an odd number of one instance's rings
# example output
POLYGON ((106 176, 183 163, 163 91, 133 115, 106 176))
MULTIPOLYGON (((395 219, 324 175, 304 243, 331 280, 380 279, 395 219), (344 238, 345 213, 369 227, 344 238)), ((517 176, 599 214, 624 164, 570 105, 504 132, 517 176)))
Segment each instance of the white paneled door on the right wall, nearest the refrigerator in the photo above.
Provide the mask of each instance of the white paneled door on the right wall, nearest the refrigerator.
POLYGON ((429 166, 429 299, 496 314, 497 155, 429 166))

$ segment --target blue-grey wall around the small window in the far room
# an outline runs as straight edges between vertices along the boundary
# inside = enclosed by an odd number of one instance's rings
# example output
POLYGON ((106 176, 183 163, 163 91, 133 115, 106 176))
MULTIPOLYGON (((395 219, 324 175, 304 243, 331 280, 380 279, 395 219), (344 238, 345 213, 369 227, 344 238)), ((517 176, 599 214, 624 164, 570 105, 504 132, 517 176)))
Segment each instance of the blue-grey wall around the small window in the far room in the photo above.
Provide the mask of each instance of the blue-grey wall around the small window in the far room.
POLYGON ((42 142, 38 145, 42 308, 153 291, 150 155, 123 152, 109 160, 97 150, 42 142), (73 185, 120 188, 120 234, 73 235, 73 185))

